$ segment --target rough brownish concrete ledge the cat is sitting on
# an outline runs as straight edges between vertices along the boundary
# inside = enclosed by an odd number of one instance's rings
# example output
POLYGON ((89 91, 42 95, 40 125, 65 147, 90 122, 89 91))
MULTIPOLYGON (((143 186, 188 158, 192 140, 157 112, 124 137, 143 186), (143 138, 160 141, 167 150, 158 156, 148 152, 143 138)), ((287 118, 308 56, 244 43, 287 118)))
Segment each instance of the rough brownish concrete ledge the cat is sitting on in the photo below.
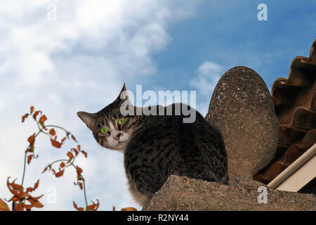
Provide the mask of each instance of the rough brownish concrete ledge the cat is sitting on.
POLYGON ((145 203, 143 210, 316 210, 316 196, 275 191, 264 184, 230 179, 225 186, 215 182, 169 176, 162 188, 145 203), (258 188, 267 188, 268 203, 258 203, 258 188))

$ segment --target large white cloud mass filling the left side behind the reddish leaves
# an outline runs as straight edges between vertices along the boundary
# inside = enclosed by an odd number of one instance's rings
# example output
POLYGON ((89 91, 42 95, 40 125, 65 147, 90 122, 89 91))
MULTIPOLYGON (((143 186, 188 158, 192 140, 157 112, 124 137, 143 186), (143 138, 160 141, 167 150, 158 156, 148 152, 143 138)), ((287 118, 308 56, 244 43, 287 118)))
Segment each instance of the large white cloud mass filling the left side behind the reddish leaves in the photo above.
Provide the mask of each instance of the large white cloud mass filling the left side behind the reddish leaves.
MULTIPOLYGON (((101 210, 112 210, 114 204, 135 206, 126 191, 122 156, 110 151, 101 155, 76 112, 100 110, 114 100, 123 82, 129 86, 151 75, 152 53, 171 40, 169 25, 192 15, 197 1, 53 1, 57 17, 51 22, 46 18, 50 3, 0 2, 0 198, 11 198, 7 176, 21 179, 23 150, 36 127, 21 124, 20 118, 34 105, 49 123, 77 134, 88 151, 89 158, 80 162, 89 200, 99 198, 101 210)), ((60 151, 40 140, 39 159, 27 167, 26 184, 40 178, 37 193, 55 186, 58 202, 46 204, 46 210, 73 210, 72 200, 83 205, 72 172, 60 179, 40 174, 70 146, 60 151)))

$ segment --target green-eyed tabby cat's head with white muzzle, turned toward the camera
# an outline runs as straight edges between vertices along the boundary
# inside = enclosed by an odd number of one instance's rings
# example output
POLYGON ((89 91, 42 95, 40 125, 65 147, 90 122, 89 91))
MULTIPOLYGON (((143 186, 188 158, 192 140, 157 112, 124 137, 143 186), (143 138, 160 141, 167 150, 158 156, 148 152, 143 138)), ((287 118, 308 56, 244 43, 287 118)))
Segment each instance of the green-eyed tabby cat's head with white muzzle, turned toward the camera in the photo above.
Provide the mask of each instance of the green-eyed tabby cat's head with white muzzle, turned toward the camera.
POLYGON ((91 129, 100 146, 124 152, 137 124, 136 116, 124 116, 121 113, 121 105, 129 105, 126 101, 129 101, 129 97, 124 84, 117 99, 103 110, 98 113, 77 113, 88 129, 91 129))

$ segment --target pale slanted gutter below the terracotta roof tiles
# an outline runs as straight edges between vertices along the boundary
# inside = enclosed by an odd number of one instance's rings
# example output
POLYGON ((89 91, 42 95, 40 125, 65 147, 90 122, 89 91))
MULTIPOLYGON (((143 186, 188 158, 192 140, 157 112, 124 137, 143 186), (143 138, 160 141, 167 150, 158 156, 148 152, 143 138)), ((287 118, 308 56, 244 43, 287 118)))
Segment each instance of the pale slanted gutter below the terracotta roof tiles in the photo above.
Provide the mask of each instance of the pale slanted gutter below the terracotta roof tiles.
POLYGON ((268 184, 280 191, 299 191, 316 176, 316 143, 268 184))

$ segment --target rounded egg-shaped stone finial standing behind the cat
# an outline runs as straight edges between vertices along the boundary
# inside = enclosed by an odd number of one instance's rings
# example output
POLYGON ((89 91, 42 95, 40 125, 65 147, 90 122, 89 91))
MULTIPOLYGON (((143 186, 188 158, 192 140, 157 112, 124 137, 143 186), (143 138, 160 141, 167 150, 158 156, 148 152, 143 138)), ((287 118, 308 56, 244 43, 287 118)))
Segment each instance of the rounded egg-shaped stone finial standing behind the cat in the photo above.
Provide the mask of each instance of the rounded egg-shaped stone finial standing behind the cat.
POLYGON ((238 66, 225 72, 206 120, 223 135, 228 176, 252 179, 275 155, 279 120, 270 91, 254 70, 238 66))

